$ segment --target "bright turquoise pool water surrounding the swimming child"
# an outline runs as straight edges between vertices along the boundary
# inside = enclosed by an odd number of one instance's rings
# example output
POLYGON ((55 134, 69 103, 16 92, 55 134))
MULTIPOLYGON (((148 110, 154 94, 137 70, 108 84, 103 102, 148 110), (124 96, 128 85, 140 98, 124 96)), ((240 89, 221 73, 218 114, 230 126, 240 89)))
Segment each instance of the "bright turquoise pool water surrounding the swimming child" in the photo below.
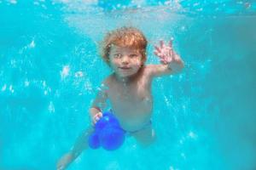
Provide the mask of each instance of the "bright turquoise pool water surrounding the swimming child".
POLYGON ((55 169, 89 125, 111 72, 104 34, 137 26, 174 38, 186 66, 154 80, 156 142, 86 150, 68 169, 256 169, 256 3, 253 1, 0 1, 0 169, 55 169))

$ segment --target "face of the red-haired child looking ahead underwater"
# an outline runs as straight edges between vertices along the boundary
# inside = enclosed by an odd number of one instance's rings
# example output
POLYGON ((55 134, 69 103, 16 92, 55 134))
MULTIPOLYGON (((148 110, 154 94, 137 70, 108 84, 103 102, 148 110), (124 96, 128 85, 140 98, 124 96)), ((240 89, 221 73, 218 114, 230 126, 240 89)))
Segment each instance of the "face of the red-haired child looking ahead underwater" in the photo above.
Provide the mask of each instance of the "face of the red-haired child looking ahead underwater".
POLYGON ((109 64, 119 77, 130 77, 135 75, 143 65, 142 54, 135 48, 112 45, 109 64))

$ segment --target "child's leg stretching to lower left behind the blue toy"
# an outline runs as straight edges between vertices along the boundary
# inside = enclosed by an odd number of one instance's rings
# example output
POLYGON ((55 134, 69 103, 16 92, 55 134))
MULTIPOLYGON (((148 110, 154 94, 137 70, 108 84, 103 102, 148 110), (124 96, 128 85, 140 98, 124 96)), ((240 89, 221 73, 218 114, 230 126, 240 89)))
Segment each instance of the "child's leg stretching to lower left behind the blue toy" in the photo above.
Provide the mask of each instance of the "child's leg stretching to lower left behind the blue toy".
POLYGON ((88 138, 90 134, 93 132, 93 127, 89 127, 79 136, 76 143, 73 146, 73 149, 70 150, 67 154, 61 157, 61 159, 57 163, 57 170, 64 170, 67 166, 74 161, 83 150, 88 148, 88 138))

